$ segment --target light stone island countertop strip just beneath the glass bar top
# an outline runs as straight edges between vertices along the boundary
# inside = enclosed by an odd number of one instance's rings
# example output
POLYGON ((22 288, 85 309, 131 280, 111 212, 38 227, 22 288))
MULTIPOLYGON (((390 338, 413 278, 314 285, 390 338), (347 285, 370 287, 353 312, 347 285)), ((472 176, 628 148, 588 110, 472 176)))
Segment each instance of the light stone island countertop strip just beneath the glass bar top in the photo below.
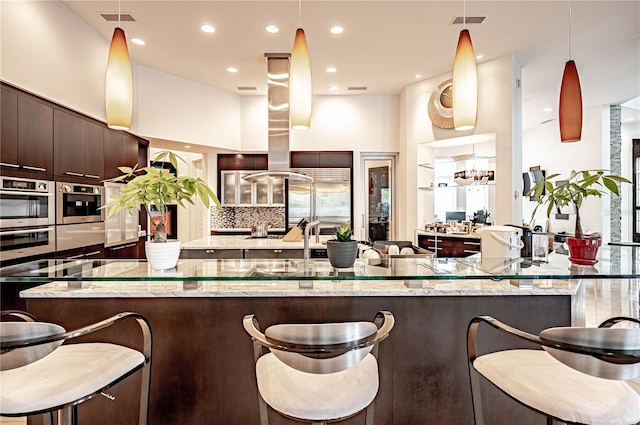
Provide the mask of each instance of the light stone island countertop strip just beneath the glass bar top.
POLYGON ((509 280, 422 281, 407 288, 401 280, 314 281, 301 289, 298 281, 140 281, 85 282, 69 289, 67 282, 51 282, 21 292, 22 298, 236 298, 236 297, 360 297, 360 296, 523 296, 575 295, 579 280, 538 280, 518 288, 509 280))

